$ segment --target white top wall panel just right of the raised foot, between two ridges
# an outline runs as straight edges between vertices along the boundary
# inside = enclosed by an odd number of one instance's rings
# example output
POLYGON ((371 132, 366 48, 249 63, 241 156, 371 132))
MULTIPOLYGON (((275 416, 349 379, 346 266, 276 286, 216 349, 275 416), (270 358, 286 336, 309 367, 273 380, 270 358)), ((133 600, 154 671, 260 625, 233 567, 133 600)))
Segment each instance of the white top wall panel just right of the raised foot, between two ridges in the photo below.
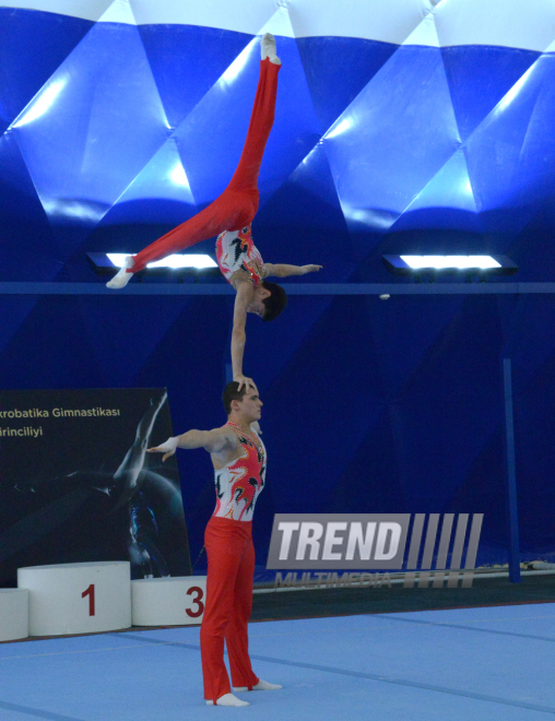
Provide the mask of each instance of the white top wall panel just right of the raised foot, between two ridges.
POLYGON ((401 45, 432 11, 429 0, 290 0, 296 37, 359 37, 401 45))

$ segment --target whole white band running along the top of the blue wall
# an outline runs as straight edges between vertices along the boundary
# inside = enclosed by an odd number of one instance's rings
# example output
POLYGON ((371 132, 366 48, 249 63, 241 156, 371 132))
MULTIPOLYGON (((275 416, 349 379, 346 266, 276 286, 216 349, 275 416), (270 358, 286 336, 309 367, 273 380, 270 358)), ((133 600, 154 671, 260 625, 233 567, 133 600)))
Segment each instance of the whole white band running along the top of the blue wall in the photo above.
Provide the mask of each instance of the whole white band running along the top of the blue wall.
POLYGON ((282 36, 293 32, 296 37, 357 37, 436 47, 428 25, 434 17, 441 47, 491 45, 545 51, 555 42, 555 0, 0 0, 0 7, 101 22, 200 25, 249 35, 264 27, 282 36))

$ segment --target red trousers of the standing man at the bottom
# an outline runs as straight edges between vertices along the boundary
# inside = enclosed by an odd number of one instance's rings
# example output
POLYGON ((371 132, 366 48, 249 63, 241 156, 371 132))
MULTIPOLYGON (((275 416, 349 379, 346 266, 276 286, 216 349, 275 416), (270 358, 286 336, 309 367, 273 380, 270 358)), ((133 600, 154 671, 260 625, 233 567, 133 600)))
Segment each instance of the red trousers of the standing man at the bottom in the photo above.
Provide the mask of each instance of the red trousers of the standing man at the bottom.
POLYGON ((256 686, 249 659, 255 548, 251 521, 213 516, 204 532, 208 556, 206 605, 200 629, 204 698, 216 701, 232 687, 224 664, 224 638, 234 686, 256 686))

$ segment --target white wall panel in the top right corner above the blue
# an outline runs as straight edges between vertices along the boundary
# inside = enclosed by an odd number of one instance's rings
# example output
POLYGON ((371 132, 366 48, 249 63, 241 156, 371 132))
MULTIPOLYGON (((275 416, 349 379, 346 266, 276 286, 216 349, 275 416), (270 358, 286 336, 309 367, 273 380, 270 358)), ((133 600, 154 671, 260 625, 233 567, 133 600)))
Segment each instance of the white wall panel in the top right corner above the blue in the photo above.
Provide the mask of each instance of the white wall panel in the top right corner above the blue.
POLYGON ((497 45, 543 52, 555 39, 554 0, 442 0, 435 15, 441 47, 497 45))

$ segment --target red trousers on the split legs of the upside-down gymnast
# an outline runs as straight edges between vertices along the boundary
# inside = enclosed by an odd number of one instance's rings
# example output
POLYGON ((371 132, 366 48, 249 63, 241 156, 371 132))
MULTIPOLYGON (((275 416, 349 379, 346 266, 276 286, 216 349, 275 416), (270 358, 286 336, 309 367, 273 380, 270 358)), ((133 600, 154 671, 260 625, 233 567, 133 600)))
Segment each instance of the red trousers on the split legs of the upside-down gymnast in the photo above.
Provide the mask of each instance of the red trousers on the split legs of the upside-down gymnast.
POLYGON ((131 273, 224 231, 240 231, 252 222, 258 210, 258 173, 273 125, 280 68, 268 58, 260 62, 260 78, 245 146, 227 188, 203 211, 141 250, 129 269, 131 273))

